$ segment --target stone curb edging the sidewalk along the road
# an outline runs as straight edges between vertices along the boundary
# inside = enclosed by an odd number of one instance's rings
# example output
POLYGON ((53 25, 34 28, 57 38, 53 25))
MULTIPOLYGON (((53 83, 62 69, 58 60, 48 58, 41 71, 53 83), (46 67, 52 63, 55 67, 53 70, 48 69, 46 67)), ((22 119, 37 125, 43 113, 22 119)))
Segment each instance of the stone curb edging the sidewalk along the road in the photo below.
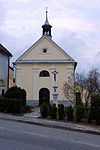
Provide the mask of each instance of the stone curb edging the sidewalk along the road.
POLYGON ((82 132, 82 133, 100 135, 100 131, 72 128, 68 126, 54 125, 54 124, 39 122, 39 121, 23 120, 23 118, 21 120, 21 119, 14 119, 14 118, 5 118, 5 117, 0 116, 0 119, 13 121, 13 122, 28 123, 32 125, 38 125, 38 126, 45 126, 45 127, 50 127, 50 128, 56 128, 56 129, 62 129, 62 130, 70 130, 70 131, 77 131, 77 132, 82 132))

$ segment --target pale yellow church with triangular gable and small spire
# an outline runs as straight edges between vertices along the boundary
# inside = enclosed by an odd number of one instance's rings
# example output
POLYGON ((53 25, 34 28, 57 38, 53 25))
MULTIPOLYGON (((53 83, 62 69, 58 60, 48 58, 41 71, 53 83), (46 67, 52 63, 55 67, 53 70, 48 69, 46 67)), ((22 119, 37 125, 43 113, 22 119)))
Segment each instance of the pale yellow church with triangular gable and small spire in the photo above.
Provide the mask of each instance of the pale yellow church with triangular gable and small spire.
POLYGON ((42 26, 43 35, 15 62, 16 85, 27 92, 27 100, 31 104, 53 101, 54 77, 52 72, 58 72, 56 83, 58 86, 58 102, 66 102, 62 87, 68 78, 74 84, 76 62, 62 50, 51 36, 52 26, 46 21, 42 26))

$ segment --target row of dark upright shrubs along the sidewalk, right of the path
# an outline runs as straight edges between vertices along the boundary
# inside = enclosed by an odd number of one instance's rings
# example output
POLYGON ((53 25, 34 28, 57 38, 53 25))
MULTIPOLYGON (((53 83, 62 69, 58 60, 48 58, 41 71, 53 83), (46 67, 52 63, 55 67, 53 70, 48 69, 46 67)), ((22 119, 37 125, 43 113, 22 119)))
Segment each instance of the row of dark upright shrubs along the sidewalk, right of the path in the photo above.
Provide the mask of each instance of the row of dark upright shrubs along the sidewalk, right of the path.
MULTIPOLYGON (((1 103, 4 104, 4 101, 1 100, 1 103)), ((0 106, 0 110, 2 111, 4 106, 0 106)), ((100 107, 95 106, 89 106, 88 108, 82 105, 77 105, 76 107, 72 108, 72 106, 68 106, 64 108, 64 105, 60 104, 58 105, 58 108, 56 107, 56 104, 46 104, 43 103, 41 108, 41 116, 43 118, 47 118, 48 116, 51 117, 51 119, 60 119, 63 120, 65 117, 65 110, 69 121, 77 121, 81 122, 82 119, 85 119, 85 121, 91 122, 95 121, 96 124, 100 125, 100 107)), ((8 110, 9 111, 9 110, 8 110)))

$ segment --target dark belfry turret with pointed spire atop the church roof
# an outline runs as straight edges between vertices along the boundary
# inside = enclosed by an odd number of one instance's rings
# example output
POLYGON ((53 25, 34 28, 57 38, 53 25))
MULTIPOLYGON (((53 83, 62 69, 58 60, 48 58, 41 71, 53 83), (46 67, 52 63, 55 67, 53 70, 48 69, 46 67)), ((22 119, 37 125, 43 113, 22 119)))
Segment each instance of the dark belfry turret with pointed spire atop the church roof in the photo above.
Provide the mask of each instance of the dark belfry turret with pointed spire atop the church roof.
POLYGON ((48 21, 47 7, 46 7, 46 20, 45 20, 45 23, 42 26, 42 28, 43 28, 43 35, 48 35, 48 36, 52 37, 51 36, 51 28, 52 28, 52 26, 49 24, 49 21, 48 21))

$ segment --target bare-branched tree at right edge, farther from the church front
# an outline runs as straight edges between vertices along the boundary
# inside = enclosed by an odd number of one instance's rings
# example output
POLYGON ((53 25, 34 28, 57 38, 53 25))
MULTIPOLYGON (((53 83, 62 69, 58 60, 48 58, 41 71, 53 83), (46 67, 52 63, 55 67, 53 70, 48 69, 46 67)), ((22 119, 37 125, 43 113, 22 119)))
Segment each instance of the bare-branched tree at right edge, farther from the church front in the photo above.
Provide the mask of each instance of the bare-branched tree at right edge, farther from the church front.
POLYGON ((84 94, 86 105, 88 105, 93 95, 100 94, 100 73, 98 69, 92 68, 87 74, 84 72, 77 73, 76 82, 86 89, 84 94))

